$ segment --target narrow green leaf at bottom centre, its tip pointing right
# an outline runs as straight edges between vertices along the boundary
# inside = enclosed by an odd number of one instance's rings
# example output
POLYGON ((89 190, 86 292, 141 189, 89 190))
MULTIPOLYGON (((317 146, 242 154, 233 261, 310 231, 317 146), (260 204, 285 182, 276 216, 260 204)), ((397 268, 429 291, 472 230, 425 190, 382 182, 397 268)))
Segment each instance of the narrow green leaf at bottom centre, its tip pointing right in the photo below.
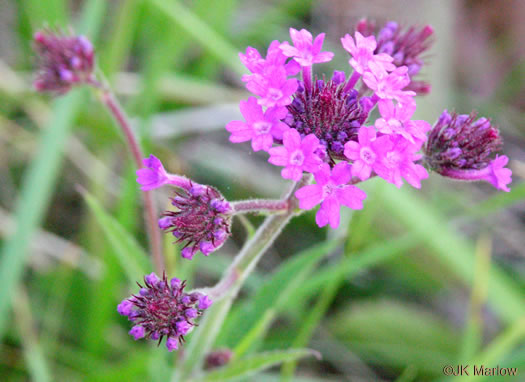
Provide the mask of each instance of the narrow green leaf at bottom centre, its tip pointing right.
POLYGON ((279 365, 283 362, 294 361, 308 356, 316 356, 317 358, 320 358, 319 353, 311 349, 289 349, 259 353, 234 361, 229 365, 211 371, 194 381, 231 381, 241 377, 252 376, 262 370, 279 365))

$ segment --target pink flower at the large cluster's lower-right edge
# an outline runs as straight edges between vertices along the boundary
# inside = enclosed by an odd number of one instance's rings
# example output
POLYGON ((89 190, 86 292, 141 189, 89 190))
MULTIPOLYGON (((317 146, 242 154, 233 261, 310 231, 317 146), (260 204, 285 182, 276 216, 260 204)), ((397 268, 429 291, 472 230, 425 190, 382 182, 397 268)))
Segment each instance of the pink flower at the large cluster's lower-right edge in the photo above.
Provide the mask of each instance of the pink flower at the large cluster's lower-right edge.
POLYGON ((421 188, 421 180, 428 178, 427 170, 423 166, 414 163, 414 161, 421 158, 421 155, 416 154, 421 148, 421 144, 410 143, 400 136, 393 139, 392 142, 393 147, 374 166, 374 171, 397 188, 403 185, 402 178, 411 186, 421 188))

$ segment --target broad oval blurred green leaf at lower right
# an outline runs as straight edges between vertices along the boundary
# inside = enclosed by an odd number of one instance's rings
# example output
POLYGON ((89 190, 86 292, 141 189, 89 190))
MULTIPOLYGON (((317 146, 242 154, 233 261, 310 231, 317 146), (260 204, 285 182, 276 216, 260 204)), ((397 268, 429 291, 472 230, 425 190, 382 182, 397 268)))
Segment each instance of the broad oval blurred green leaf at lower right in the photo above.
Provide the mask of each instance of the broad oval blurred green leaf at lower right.
POLYGON ((380 300, 355 303, 328 321, 329 330, 365 361, 439 376, 460 344, 444 320, 417 305, 380 300))

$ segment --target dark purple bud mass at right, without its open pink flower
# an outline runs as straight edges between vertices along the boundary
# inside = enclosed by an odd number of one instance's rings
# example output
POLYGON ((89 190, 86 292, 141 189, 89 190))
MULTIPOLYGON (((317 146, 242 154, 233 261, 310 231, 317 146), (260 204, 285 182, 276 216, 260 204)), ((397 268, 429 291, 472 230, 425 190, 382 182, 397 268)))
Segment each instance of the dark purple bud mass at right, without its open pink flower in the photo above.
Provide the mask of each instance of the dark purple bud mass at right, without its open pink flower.
POLYGON ((438 173, 479 170, 489 165, 501 145, 499 130, 489 119, 445 110, 428 136, 425 162, 438 173))

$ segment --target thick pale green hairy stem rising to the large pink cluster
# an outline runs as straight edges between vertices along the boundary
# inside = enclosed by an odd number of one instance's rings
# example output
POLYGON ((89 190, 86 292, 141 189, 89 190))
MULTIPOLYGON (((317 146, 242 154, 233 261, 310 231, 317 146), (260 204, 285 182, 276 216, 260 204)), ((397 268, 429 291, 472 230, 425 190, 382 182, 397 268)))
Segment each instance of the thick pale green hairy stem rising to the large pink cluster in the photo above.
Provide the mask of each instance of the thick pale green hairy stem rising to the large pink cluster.
POLYGON ((204 319, 193 334, 191 343, 186 349, 185 358, 172 376, 173 382, 188 380, 190 375, 201 367, 244 281, 290 219, 300 213, 297 211, 298 201, 294 198, 295 191, 308 184, 311 179, 311 175, 308 174, 303 176, 301 181, 293 184, 284 198, 288 202, 288 210, 285 213, 267 217, 255 235, 246 242, 224 273, 223 278, 213 288, 205 291, 214 304, 206 312, 204 319))

